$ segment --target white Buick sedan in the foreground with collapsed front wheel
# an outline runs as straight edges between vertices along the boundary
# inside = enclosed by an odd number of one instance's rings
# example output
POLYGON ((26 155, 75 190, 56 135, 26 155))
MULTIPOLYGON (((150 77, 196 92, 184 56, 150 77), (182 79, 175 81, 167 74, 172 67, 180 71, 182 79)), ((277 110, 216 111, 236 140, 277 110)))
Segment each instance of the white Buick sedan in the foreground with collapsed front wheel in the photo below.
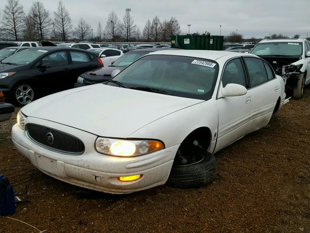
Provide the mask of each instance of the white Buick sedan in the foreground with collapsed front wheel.
POLYGON ((108 83, 26 105, 12 139, 42 172, 78 186, 197 187, 216 173, 213 154, 266 126, 284 100, 283 79, 256 55, 161 50, 108 83))

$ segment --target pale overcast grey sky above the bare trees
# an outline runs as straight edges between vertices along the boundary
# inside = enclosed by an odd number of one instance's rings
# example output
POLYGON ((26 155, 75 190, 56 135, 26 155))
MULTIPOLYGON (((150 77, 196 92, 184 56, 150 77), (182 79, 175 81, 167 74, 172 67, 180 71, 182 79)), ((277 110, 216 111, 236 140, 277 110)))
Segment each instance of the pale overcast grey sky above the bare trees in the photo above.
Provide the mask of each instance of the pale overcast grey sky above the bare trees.
MULTIPOLYGON (((6 4, 0 0, 0 9, 6 4)), ((41 0, 51 17, 58 0, 41 0)), ((20 0, 28 13, 33 0, 20 0)), ((287 36, 310 36, 310 0, 63 0, 69 11, 73 27, 83 17, 97 32, 98 20, 105 27, 109 12, 115 11, 122 19, 125 8, 131 8, 131 16, 142 32, 147 19, 155 15, 160 20, 176 17, 183 33, 210 32, 212 35, 243 34, 245 38, 264 37, 269 33, 287 36)), ((1 13, 2 14, 2 13, 1 13)))

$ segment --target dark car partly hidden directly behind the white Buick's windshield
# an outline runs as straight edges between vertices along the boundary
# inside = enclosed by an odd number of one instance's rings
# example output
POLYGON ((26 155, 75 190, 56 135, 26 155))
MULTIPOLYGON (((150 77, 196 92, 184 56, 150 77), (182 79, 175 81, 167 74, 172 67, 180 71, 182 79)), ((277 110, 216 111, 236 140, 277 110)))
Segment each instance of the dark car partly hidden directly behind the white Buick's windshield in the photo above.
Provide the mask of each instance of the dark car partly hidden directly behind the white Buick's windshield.
POLYGON ((125 67, 128 67, 131 63, 139 59, 140 57, 148 54, 150 52, 163 50, 161 49, 141 49, 141 50, 132 50, 126 52, 123 56, 117 59, 111 66, 102 67, 95 69, 84 74, 81 74, 78 77, 78 82, 74 84, 75 87, 91 85, 96 83, 103 83, 111 79, 111 73, 115 69, 123 70, 125 67))

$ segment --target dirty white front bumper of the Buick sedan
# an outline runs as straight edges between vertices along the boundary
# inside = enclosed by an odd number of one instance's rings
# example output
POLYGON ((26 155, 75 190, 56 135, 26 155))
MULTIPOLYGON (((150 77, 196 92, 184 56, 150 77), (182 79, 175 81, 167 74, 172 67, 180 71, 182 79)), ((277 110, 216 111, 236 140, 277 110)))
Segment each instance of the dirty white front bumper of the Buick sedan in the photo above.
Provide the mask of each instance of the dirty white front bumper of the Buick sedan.
POLYGON ((48 150, 32 142, 16 124, 12 128, 13 143, 34 166, 61 181, 107 193, 131 193, 166 183, 179 148, 175 145, 137 157, 115 157, 96 152, 94 142, 97 136, 91 133, 34 117, 27 117, 25 123, 36 123, 76 135, 85 144, 85 152, 78 156, 48 150), (132 182, 117 179, 138 174, 142 177, 132 182))

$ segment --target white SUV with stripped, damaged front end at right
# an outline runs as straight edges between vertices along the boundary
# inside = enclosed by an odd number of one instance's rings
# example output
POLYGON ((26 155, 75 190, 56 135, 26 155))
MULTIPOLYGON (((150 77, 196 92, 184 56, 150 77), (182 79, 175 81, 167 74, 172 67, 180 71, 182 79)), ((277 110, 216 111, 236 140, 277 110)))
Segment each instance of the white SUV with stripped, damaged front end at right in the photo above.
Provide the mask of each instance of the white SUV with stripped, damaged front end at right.
POLYGON ((301 99, 310 83, 310 42, 306 39, 264 39, 250 53, 266 60, 282 76, 286 95, 301 99))

